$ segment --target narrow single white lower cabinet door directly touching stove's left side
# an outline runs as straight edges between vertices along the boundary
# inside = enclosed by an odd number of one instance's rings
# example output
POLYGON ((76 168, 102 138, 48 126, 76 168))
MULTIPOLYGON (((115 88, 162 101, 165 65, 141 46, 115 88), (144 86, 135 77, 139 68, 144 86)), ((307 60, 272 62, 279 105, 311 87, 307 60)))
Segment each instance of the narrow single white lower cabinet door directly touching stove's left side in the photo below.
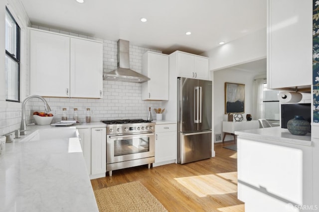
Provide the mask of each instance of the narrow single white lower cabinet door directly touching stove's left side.
POLYGON ((92 175, 106 173, 106 127, 92 128, 92 175))

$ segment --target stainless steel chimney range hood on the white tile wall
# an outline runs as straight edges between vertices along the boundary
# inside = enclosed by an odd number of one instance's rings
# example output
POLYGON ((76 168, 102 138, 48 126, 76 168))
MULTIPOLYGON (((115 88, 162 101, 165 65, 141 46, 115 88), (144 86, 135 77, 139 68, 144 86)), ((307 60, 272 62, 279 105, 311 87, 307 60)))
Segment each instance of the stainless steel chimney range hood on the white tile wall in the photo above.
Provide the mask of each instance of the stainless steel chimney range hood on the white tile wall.
POLYGON ((130 69, 130 42, 118 40, 118 68, 105 73, 103 80, 122 81, 129 83, 144 83, 150 78, 130 69))

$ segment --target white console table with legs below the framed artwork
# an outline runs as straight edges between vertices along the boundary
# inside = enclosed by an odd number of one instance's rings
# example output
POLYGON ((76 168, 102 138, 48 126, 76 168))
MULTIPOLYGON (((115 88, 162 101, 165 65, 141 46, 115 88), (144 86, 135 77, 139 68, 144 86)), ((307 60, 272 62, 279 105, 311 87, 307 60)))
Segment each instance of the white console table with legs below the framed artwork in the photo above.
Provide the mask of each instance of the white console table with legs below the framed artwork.
POLYGON ((257 129, 259 128, 258 120, 251 121, 223 121, 223 142, 226 135, 233 135, 234 141, 236 143, 235 131, 245 130, 245 129, 257 129))

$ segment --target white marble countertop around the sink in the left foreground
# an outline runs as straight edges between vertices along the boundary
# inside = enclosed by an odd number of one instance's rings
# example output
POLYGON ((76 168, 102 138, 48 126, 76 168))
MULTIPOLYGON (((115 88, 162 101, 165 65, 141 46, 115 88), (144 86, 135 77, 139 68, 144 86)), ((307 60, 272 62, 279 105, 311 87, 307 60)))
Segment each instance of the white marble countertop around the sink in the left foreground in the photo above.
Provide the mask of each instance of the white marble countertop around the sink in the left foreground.
MULTIPOLYGON (((28 135, 47 128, 28 126, 28 135)), ((0 154, 0 211, 98 212, 78 138, 24 141, 28 135, 0 154)))

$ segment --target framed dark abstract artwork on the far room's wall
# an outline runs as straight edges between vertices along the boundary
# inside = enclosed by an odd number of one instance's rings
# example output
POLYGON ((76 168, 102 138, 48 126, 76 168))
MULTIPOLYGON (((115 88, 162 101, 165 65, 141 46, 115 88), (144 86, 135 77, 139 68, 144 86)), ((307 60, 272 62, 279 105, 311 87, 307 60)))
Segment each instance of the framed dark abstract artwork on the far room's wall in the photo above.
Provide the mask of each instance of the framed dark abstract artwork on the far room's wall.
POLYGON ((225 83, 225 114, 245 112, 245 85, 225 83))

